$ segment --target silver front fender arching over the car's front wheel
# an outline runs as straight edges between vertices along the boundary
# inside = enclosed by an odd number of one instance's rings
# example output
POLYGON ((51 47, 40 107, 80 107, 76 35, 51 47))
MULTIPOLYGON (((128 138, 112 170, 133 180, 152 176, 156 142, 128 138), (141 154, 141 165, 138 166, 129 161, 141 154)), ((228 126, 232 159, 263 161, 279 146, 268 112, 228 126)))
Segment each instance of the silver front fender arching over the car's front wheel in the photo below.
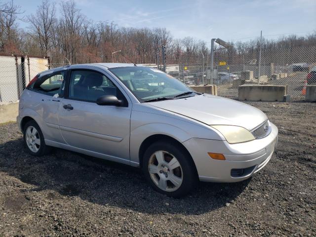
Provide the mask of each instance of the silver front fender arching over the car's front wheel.
POLYGON ((225 140, 215 129, 194 119, 147 105, 136 105, 130 120, 131 165, 139 164, 140 146, 152 135, 167 135, 180 143, 191 138, 225 140))

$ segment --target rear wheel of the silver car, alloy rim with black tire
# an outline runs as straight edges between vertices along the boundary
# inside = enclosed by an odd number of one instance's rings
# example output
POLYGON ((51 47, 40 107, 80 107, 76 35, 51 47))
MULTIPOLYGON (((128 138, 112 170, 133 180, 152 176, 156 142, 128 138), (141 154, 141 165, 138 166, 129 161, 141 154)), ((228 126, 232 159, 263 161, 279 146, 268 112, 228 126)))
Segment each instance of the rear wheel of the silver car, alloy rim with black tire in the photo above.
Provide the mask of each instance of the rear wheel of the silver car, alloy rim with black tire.
POLYGON ((23 141, 27 152, 33 156, 44 156, 51 151, 45 144, 43 133, 36 121, 28 121, 23 129, 23 141))

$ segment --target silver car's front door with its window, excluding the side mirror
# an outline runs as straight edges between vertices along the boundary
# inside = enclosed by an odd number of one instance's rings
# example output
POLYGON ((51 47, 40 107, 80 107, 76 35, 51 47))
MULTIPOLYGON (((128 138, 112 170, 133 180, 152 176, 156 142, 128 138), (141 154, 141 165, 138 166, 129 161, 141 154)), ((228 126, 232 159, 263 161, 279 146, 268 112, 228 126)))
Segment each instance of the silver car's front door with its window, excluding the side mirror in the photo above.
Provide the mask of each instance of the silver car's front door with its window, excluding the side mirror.
POLYGON ((101 72, 71 70, 67 93, 59 106, 59 126, 65 142, 79 152, 129 163, 132 104, 118 86, 101 72), (124 103, 120 107, 97 105, 102 95, 115 95, 124 103))

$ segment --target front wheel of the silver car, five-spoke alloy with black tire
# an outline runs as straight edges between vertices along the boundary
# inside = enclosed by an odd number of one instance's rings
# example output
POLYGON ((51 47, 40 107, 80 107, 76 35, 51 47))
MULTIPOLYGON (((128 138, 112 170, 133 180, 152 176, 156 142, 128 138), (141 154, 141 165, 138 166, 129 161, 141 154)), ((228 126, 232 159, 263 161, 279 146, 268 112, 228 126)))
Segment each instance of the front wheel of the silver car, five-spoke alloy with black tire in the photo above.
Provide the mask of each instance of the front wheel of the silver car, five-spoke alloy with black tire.
POLYGON ((142 169, 154 190, 170 197, 184 197, 198 184, 191 156, 173 141, 152 144, 144 154, 142 169))

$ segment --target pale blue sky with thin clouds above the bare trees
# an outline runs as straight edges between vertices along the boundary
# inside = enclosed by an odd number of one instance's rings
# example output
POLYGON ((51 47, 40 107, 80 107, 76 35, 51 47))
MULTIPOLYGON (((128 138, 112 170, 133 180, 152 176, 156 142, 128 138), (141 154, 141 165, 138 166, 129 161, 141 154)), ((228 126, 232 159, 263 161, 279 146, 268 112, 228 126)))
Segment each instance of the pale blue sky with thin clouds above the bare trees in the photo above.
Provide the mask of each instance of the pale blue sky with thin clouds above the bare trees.
MULTIPOLYGON (((51 0, 59 12, 60 0, 51 0)), ((209 42, 278 38, 316 31, 316 0, 75 0, 94 21, 114 21, 124 27, 165 27, 174 38, 209 42)), ((3 0, 2 0, 3 2, 3 0)), ((40 0, 14 0, 26 14, 40 0)), ((20 23, 25 26, 26 23, 20 23)))

